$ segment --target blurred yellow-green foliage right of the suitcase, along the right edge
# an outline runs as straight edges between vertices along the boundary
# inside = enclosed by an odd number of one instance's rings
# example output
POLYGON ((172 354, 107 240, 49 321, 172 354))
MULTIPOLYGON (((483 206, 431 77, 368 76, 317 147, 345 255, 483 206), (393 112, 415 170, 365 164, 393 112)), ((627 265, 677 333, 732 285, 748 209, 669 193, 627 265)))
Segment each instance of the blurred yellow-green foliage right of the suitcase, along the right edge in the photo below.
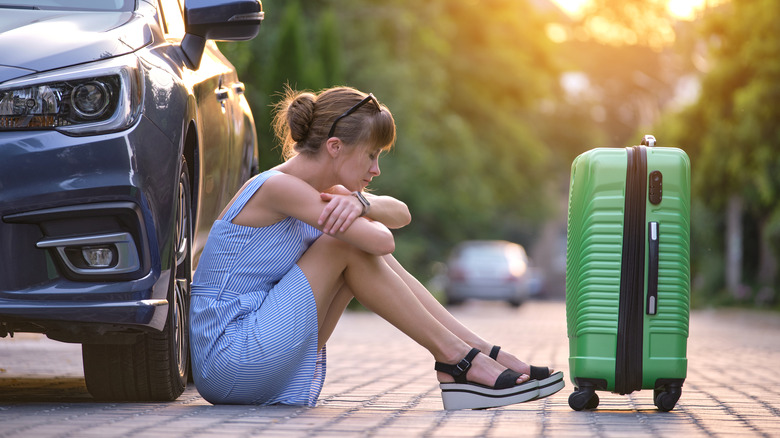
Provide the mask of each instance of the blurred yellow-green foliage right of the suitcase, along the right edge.
MULTIPOLYGON (((702 40, 710 49, 710 68, 700 98, 674 121, 667 121, 676 141, 690 146, 694 199, 708 212, 693 225, 723 217, 732 196, 744 200, 745 283, 769 294, 757 298, 763 303, 777 303, 775 290, 780 286, 773 266, 780 257, 778 15, 780 3, 774 0, 732 0, 706 17, 702 40)), ((699 234, 709 243, 722 241, 722 233, 710 227, 699 234)), ((700 254, 699 269, 722 268, 723 252, 724 248, 715 248, 700 254)), ((714 280, 702 293, 718 296, 722 287, 717 288, 717 278, 722 273, 709 275, 714 280)))

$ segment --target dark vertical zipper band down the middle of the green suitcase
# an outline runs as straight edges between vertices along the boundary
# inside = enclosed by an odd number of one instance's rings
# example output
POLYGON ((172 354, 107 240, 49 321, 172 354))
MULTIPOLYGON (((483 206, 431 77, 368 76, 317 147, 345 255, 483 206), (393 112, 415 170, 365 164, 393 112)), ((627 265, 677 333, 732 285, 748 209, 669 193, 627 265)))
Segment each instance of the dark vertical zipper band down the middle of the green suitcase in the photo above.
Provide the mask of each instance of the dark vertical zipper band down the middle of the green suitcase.
POLYGON ((626 148, 626 195, 623 254, 618 306, 615 392, 629 394, 642 388, 642 331, 644 322, 645 213, 647 151, 626 148))

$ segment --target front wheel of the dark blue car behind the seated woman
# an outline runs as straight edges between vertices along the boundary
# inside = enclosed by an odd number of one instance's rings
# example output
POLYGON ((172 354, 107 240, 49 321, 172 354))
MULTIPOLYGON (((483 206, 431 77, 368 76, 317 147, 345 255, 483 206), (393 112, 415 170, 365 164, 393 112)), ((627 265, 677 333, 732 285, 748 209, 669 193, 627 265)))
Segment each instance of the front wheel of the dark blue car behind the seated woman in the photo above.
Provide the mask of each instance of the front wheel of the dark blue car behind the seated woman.
POLYGON ((192 280, 190 180, 182 157, 176 204, 168 318, 162 332, 134 344, 84 344, 84 377, 99 400, 175 400, 189 372, 189 300, 192 280))

